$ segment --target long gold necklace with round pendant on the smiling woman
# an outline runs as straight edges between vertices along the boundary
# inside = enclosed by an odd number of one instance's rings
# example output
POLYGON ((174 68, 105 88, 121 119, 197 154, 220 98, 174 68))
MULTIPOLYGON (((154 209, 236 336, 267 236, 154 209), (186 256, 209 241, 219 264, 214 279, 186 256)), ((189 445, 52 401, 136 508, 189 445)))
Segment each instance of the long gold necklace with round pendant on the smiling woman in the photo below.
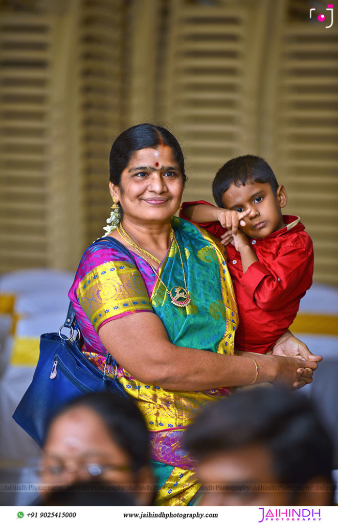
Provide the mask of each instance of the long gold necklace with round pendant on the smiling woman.
POLYGON ((175 240, 175 243, 177 245, 177 248, 178 248, 178 252, 179 252, 179 258, 181 259, 181 265, 182 265, 182 271, 183 271, 183 279, 184 279, 184 285, 185 287, 181 287, 181 286, 175 286, 175 287, 172 287, 171 290, 169 290, 167 288, 167 286, 165 285, 164 281, 162 280, 162 278, 157 274, 156 270, 154 269, 154 267, 151 265, 151 263, 149 263, 149 261, 142 255, 142 253, 144 253, 145 255, 149 256, 150 259, 152 259, 153 261, 155 261, 155 263, 157 264, 161 264, 161 261, 159 261, 157 258, 155 258, 155 256, 152 256, 150 253, 148 253, 147 251, 144 251, 144 249, 142 249, 136 242, 134 242, 132 240, 132 238, 130 237, 130 235, 127 233, 127 231, 125 230, 125 228, 123 227, 122 223, 120 223, 118 226, 117 226, 117 232, 119 233, 119 235, 124 238, 127 243, 129 243, 129 245, 132 245, 136 251, 139 253, 139 255, 141 256, 142 259, 144 259, 144 261, 149 265, 149 267, 153 270, 153 272, 155 273, 155 276, 161 281, 162 285, 164 286, 167 294, 170 295, 170 298, 171 298, 171 302, 173 303, 173 305, 176 305, 176 307, 186 307, 187 305, 189 305, 191 299, 189 297, 189 292, 188 292, 188 289, 187 289, 187 282, 186 282, 186 279, 185 279, 185 272, 184 272, 184 266, 183 266, 183 259, 182 259, 182 254, 181 254, 181 249, 179 248, 179 245, 177 243, 177 240, 176 240, 176 237, 175 237, 175 233, 174 233, 174 230, 172 228, 172 226, 170 226, 170 238, 171 240, 174 239, 175 240), (175 293, 175 294, 174 294, 175 293), (182 299, 182 301, 179 301, 180 299, 182 299))

